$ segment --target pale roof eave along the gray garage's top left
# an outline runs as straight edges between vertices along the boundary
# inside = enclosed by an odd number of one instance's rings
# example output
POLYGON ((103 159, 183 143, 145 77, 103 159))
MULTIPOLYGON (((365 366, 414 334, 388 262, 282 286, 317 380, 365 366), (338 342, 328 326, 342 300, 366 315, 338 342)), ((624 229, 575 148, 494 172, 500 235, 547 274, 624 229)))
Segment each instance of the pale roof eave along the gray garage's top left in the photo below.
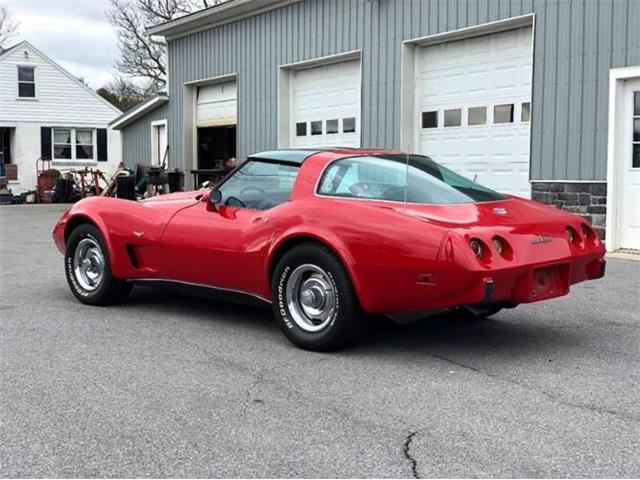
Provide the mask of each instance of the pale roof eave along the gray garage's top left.
POLYGON ((147 33, 168 39, 179 38, 298 1, 300 0, 227 0, 175 20, 151 26, 147 28, 147 33))

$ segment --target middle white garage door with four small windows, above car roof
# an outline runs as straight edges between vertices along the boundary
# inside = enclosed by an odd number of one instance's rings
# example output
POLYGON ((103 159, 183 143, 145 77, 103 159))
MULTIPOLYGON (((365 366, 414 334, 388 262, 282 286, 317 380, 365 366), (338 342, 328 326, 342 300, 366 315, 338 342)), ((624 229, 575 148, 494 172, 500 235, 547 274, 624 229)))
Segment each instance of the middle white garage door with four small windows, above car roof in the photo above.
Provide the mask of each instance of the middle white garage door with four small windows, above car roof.
POLYGON ((360 62, 291 74, 292 147, 360 146, 360 62))

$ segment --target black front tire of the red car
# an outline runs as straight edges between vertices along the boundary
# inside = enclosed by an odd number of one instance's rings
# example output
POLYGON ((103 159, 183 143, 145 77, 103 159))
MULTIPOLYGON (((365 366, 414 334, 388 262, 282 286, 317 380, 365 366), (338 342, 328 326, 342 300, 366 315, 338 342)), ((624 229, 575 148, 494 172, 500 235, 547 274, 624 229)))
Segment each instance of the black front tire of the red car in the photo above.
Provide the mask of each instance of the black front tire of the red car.
POLYGON ((114 278, 111 274, 109 252, 105 246, 102 234, 96 227, 88 223, 79 225, 69 235, 64 255, 64 268, 71 292, 80 302, 87 305, 112 305, 119 303, 125 300, 131 291, 131 285, 124 280, 114 278), (101 270, 101 280, 97 282, 95 289, 83 288, 83 282, 78 278, 74 269, 76 249, 83 240, 95 243, 95 245, 99 247, 99 253, 102 254, 104 260, 104 266, 101 270))

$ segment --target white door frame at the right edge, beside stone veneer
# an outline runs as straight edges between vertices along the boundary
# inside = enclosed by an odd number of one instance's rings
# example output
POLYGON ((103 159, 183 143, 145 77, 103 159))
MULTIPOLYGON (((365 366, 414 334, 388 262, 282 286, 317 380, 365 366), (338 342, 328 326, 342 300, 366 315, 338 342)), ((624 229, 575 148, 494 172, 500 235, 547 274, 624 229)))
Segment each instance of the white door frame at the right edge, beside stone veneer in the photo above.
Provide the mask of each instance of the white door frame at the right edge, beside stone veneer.
POLYGON ((618 249, 618 163, 622 142, 618 141, 622 126, 616 112, 623 107, 624 81, 640 78, 640 66, 612 68, 609 70, 609 132, 607 136, 607 224, 605 246, 607 251, 618 249))

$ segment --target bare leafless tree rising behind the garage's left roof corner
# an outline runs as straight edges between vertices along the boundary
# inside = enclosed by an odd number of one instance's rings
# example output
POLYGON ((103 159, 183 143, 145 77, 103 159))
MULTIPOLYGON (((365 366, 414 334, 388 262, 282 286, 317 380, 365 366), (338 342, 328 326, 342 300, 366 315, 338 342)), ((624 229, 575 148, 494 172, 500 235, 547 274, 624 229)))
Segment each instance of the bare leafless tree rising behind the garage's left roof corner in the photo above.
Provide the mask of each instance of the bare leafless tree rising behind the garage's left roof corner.
POLYGON ((207 8, 221 0, 111 0, 109 18, 118 32, 118 71, 147 81, 153 90, 164 87, 165 47, 152 41, 146 28, 207 8))

